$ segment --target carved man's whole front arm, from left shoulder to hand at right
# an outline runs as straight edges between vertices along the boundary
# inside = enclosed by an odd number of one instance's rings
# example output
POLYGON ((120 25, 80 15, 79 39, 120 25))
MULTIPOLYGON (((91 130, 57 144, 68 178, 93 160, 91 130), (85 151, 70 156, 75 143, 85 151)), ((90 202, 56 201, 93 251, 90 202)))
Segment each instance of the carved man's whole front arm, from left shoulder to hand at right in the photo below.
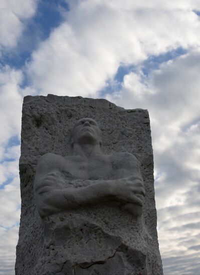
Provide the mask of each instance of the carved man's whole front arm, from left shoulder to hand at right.
POLYGON ((129 211, 132 209, 133 214, 135 212, 130 205, 137 205, 136 208, 142 207, 140 197, 145 195, 145 190, 139 171, 123 178, 87 180, 88 185, 84 187, 64 187, 65 180, 57 167, 58 163, 59 159, 54 163, 51 158, 48 160, 45 156, 38 163, 34 191, 41 217, 110 200, 129 205, 126 208, 129 211))

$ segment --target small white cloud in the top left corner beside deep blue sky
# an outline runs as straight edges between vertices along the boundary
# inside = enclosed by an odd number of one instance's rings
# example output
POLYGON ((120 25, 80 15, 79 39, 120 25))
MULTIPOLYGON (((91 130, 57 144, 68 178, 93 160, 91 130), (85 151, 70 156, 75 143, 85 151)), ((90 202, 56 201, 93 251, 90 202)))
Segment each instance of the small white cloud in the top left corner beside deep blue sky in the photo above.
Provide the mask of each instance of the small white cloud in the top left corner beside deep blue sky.
POLYGON ((1 0, 0 2, 0 55, 17 45, 25 28, 24 21, 36 11, 37 0, 1 0))

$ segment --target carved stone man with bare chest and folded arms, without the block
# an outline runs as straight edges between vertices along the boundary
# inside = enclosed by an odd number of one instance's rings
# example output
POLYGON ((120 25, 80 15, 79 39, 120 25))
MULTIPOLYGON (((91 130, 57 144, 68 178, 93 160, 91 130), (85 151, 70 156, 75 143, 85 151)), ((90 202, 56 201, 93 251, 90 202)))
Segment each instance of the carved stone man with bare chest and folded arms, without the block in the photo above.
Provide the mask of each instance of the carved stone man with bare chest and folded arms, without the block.
POLYGON ((101 130, 92 118, 77 121, 71 145, 73 155, 47 153, 38 162, 34 190, 40 216, 108 201, 140 216, 145 189, 137 158, 102 154, 101 130))

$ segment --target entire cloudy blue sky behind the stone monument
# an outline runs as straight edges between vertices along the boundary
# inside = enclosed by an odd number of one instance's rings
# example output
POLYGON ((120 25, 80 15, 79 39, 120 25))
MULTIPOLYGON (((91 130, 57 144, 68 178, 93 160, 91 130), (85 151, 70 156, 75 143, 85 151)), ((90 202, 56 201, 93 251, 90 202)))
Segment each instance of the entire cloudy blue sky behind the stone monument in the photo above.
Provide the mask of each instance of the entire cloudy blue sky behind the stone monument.
POLYGON ((14 274, 26 95, 145 108, 164 274, 200 274, 200 1, 0 1, 0 274, 14 274))

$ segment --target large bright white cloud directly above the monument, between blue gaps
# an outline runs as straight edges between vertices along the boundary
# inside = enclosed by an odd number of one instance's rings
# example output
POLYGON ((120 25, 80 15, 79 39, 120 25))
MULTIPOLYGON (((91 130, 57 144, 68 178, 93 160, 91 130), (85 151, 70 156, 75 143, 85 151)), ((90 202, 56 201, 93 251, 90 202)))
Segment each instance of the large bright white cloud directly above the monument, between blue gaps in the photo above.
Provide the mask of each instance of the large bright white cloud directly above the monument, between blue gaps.
POLYGON ((71 1, 66 21, 32 55, 33 85, 41 94, 96 96, 120 63, 199 45, 194 8, 194 1, 71 1))

